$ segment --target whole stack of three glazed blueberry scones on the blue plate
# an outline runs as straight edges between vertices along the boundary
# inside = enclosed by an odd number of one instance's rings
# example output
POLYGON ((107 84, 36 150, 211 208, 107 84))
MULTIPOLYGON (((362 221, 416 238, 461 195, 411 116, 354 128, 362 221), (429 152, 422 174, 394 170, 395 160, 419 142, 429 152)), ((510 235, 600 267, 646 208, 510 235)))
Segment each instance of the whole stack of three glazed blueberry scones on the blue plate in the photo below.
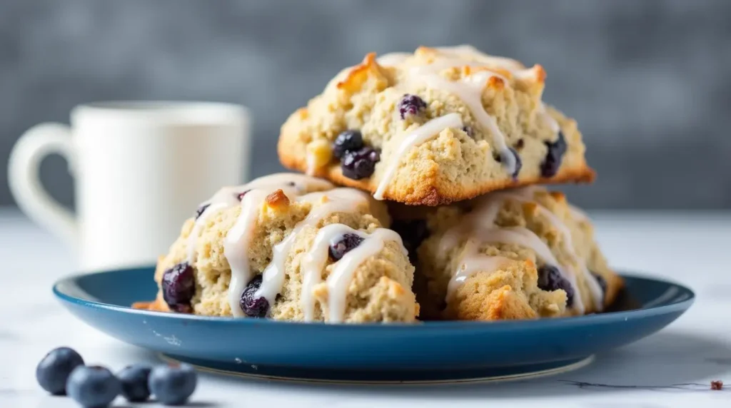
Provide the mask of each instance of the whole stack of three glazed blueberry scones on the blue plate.
POLYGON ((308 175, 205 201, 148 307, 327 323, 601 312, 621 278, 586 215, 539 186, 594 178, 544 81, 469 46, 367 55, 282 126, 281 162, 308 175))

